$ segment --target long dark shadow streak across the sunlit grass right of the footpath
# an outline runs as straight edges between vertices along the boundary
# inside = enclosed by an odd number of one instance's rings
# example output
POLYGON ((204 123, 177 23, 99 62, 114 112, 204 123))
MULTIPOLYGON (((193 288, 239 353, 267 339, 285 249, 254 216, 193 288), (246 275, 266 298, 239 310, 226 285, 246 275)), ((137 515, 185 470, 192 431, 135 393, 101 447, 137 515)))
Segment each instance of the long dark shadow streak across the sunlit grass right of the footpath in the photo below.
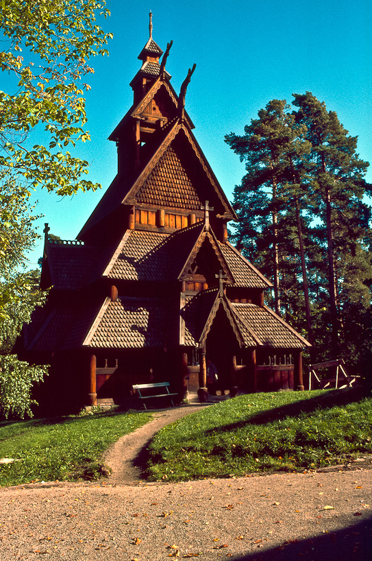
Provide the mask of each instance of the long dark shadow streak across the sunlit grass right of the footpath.
MULTIPOLYGON (((348 403, 356 403, 363 398, 371 396, 371 391, 364 387, 355 387, 345 390, 332 390, 325 392, 324 395, 288 403, 282 407, 275 407, 268 411, 262 411, 257 415, 249 417, 247 420, 229 423, 219 427, 219 431, 228 432, 245 427, 246 425, 266 425, 269 422, 283 420, 287 417, 298 417, 301 413, 312 413, 317 409, 327 409, 330 407, 341 407, 348 403)), ((208 429, 206 434, 214 433, 215 429, 208 429)))

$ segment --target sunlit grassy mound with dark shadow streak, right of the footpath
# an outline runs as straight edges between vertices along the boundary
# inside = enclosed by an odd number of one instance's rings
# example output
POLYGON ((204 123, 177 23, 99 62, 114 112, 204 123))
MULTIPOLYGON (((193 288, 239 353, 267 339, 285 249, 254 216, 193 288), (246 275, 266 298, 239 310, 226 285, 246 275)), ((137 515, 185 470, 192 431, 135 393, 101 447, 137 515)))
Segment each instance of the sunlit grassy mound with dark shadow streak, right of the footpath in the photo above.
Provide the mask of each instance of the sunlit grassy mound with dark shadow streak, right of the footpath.
POLYGON ((249 394, 164 427, 147 477, 180 481, 303 471, 372 453, 372 398, 362 390, 249 394))

